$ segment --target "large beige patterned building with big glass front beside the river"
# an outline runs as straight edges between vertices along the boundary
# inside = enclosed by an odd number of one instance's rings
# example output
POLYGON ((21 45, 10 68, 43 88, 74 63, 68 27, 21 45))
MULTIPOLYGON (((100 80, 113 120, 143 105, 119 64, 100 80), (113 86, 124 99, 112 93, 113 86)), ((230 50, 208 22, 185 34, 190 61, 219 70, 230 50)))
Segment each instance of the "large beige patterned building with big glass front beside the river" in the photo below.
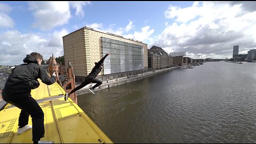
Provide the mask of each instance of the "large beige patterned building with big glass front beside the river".
MULTIPOLYGON (((76 80, 83 81, 106 53, 99 76, 122 77, 148 69, 147 44, 115 34, 83 27, 62 37, 65 67, 73 65, 76 80)), ((103 78, 102 78, 103 79, 103 78)))

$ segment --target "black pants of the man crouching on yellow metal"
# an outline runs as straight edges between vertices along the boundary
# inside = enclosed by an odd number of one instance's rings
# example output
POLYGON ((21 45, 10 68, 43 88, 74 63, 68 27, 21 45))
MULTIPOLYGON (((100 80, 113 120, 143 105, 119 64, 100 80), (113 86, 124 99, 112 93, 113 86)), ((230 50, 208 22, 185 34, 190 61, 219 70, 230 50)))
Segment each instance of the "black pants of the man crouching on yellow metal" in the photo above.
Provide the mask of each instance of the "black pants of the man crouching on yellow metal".
POLYGON ((44 112, 34 98, 8 99, 3 97, 3 99, 21 109, 19 128, 27 125, 29 115, 31 116, 33 141, 44 137, 44 112))

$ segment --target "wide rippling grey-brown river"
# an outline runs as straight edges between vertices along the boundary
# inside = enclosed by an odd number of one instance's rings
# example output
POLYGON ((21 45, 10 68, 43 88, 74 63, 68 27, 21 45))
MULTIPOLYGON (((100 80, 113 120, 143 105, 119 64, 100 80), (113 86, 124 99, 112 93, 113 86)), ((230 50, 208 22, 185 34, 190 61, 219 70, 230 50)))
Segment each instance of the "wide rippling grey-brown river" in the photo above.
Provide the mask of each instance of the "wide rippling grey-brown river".
POLYGON ((256 143, 252 62, 205 62, 77 100, 114 143, 256 143))

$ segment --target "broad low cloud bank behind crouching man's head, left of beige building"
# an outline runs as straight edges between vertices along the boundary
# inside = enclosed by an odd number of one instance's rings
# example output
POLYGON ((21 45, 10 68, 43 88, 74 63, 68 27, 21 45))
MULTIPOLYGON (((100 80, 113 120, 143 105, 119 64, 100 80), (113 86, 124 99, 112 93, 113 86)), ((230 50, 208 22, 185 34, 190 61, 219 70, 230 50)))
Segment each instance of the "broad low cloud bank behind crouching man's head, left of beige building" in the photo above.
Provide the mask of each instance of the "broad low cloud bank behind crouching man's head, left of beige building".
POLYGON ((63 55, 62 36, 68 34, 66 30, 54 31, 44 38, 42 34, 21 34, 17 30, 9 30, 0 34, 0 65, 19 65, 31 52, 38 52, 48 60, 52 54, 55 57, 63 55), (15 41, 13 41, 15 39, 15 41))

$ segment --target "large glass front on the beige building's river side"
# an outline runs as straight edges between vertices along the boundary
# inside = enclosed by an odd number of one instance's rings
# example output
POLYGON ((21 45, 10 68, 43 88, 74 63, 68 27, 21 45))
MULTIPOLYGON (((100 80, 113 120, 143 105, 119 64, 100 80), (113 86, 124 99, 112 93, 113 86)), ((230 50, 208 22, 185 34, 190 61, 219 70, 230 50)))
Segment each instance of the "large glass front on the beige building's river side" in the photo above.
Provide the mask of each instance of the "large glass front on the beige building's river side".
POLYGON ((104 75, 144 69, 143 46, 101 37, 103 56, 110 53, 103 62, 104 75))

